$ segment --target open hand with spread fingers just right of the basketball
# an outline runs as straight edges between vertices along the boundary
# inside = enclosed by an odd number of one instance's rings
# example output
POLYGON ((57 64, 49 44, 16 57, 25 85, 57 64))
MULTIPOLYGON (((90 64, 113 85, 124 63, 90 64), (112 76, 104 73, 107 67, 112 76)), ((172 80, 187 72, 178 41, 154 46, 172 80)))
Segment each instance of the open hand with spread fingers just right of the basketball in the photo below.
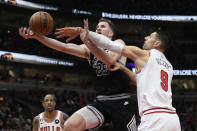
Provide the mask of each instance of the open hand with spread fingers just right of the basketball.
POLYGON ((56 29, 55 35, 57 35, 56 38, 69 37, 66 40, 66 42, 69 42, 80 35, 82 30, 83 29, 81 27, 64 27, 56 29))

